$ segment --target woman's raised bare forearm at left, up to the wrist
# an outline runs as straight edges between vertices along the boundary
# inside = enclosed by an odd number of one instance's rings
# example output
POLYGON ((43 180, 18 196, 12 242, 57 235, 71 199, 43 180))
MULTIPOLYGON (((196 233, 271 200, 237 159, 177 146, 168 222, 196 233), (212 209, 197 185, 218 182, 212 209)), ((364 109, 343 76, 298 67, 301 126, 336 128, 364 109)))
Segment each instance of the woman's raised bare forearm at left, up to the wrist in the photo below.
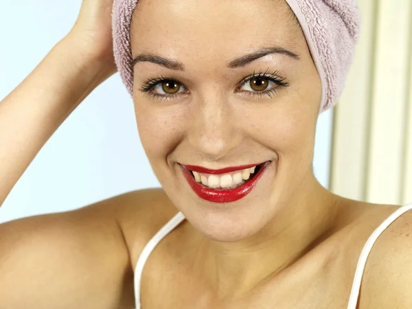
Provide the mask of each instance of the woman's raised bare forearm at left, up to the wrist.
POLYGON ((0 205, 70 113, 113 72, 60 41, 0 102, 0 205))

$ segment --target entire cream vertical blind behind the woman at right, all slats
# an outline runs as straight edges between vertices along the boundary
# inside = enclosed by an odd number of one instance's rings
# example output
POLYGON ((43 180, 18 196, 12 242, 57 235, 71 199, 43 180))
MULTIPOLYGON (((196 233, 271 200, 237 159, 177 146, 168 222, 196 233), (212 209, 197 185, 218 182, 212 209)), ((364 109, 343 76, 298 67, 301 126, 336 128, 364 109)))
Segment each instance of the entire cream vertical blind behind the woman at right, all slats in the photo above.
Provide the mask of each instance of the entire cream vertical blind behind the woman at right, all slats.
POLYGON ((406 204, 412 201, 412 1, 358 5, 361 38, 335 111, 331 190, 406 204))

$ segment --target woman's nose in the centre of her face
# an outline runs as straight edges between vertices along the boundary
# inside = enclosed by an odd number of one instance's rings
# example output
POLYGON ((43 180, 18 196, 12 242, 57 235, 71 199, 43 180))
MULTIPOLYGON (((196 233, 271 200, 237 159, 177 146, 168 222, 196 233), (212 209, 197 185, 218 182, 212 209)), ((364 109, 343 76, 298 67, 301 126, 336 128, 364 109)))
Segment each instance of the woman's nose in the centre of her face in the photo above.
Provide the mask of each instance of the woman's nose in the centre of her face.
POLYGON ((194 104, 187 138, 204 157, 216 161, 240 144, 242 133, 225 99, 210 97, 194 104))

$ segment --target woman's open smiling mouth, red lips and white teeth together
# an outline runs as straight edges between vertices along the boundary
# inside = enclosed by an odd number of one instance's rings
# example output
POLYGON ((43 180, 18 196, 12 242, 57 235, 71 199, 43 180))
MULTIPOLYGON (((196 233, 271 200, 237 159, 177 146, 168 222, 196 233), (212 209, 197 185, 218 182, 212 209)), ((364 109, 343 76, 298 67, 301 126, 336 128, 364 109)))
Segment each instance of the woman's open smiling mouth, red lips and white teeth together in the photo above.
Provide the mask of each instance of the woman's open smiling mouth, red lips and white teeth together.
POLYGON ((199 197, 214 203, 229 203, 249 194, 270 162, 222 170, 208 170, 193 165, 181 165, 181 169, 199 197))

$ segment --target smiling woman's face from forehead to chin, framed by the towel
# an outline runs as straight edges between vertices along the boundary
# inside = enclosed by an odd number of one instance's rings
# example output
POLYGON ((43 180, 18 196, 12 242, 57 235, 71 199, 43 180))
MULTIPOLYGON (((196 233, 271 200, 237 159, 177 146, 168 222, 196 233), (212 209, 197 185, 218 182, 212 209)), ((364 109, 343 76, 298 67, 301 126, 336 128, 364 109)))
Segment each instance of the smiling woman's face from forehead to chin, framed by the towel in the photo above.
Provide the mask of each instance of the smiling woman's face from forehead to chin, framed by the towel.
MULTIPOLYGON (((260 231, 312 179, 321 82, 288 5, 139 1, 131 29, 133 58, 141 60, 134 67, 137 126, 165 193, 214 240, 236 241, 260 231), (242 58, 264 49, 277 52, 242 58), (179 64, 164 67, 147 54, 179 64), (184 175, 186 165, 218 170, 264 162, 260 174, 244 183, 258 179, 245 196, 233 190, 225 191, 226 199, 207 189, 198 194, 193 174, 192 185, 184 175)), ((225 176, 224 185, 236 186, 237 173, 242 171, 229 173, 235 183, 225 176)), ((210 176, 203 173, 203 180, 215 186, 216 175, 210 176)))

